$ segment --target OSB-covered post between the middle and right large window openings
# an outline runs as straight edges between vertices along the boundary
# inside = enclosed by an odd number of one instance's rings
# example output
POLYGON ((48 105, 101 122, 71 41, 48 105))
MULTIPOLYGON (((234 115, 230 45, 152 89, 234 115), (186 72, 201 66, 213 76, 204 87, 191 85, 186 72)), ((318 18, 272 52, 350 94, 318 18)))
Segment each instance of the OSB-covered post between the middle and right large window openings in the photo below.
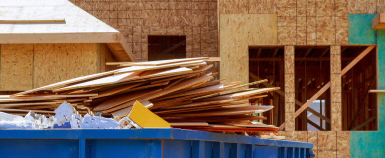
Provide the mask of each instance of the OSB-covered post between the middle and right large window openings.
POLYGON ((341 46, 330 46, 331 129, 342 129, 341 112, 341 46))

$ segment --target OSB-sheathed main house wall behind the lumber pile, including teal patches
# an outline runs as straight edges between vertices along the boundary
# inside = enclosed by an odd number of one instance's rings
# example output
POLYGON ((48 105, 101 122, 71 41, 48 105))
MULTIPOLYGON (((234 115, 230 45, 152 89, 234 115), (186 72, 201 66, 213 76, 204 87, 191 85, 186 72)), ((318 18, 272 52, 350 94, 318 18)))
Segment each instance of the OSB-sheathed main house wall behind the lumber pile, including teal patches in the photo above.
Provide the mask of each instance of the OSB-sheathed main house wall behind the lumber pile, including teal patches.
MULTIPOLYGON (((149 34, 186 35, 187 57, 218 55, 216 1, 72 1, 123 32, 137 60, 147 60, 146 36, 149 34)), ((385 32, 370 28, 372 13, 384 12, 385 0, 218 2, 220 64, 223 69, 220 74, 227 81, 248 81, 247 50, 250 45, 332 45, 330 71, 333 75, 330 80, 335 87, 340 84, 337 79, 340 62, 335 62, 340 55, 338 47, 378 44, 378 88, 385 88, 385 68, 382 67, 385 44, 379 43, 385 41, 385 32), (354 20, 358 20, 357 23, 354 20)), ((292 64, 285 62, 285 70, 292 64)), ((340 89, 331 88, 331 93, 332 131, 293 131, 290 127, 280 134, 293 140, 313 142, 313 152, 319 157, 383 156, 385 143, 380 136, 383 127, 379 126, 379 131, 340 131, 338 122, 341 118, 337 117, 341 110, 340 89)), ((385 115, 384 98, 385 94, 378 94, 379 124, 385 120, 382 117, 385 115)), ((292 112, 291 100, 285 102, 286 112, 292 112)))

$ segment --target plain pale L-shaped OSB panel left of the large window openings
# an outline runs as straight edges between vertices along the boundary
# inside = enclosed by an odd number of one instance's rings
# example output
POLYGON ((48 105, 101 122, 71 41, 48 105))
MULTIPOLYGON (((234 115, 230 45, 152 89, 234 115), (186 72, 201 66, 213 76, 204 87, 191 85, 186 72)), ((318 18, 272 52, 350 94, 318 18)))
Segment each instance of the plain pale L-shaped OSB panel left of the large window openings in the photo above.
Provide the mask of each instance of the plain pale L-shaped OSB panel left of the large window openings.
MULTIPOLYGON (((220 22, 220 77, 227 82, 249 81, 249 46, 277 44, 276 14, 222 14, 220 22)), ((247 87, 244 87, 247 88, 247 87)))

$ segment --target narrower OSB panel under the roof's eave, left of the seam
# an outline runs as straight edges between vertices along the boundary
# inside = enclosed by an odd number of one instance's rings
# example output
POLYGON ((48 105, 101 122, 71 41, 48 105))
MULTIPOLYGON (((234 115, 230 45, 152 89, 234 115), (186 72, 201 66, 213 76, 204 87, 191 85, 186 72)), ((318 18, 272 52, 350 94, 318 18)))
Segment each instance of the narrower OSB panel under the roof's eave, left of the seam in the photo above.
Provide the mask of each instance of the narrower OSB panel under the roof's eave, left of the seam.
POLYGON ((0 90, 32 89, 34 44, 0 46, 0 90))

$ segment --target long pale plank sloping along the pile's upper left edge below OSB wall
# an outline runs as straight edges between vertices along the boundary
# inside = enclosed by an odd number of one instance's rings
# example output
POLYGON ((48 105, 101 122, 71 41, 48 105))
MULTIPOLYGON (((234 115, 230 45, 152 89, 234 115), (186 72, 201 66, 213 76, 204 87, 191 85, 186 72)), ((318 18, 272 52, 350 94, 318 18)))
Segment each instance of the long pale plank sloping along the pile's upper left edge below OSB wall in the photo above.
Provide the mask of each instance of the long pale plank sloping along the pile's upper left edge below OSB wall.
POLYGON ((92 79, 92 78, 102 77, 102 76, 106 76, 106 75, 111 75, 111 74, 114 74, 114 72, 116 72, 118 70, 119 69, 108 71, 108 72, 90 74, 90 75, 81 76, 81 77, 77 77, 77 78, 73 78, 73 79, 69 79, 69 80, 64 80, 64 81, 61 81, 61 82, 57 82, 57 83, 53 83, 53 84, 50 84, 50 85, 42 86, 42 87, 35 88, 35 89, 32 89, 32 90, 27 90, 27 91, 19 92, 19 93, 16 93, 16 94, 12 94, 11 96, 28 94, 28 93, 39 91, 39 90, 51 90, 51 89, 55 89, 55 88, 58 88, 58 87, 66 86, 66 85, 71 84, 71 83, 76 83, 76 82, 84 81, 84 80, 87 80, 87 79, 92 79))

